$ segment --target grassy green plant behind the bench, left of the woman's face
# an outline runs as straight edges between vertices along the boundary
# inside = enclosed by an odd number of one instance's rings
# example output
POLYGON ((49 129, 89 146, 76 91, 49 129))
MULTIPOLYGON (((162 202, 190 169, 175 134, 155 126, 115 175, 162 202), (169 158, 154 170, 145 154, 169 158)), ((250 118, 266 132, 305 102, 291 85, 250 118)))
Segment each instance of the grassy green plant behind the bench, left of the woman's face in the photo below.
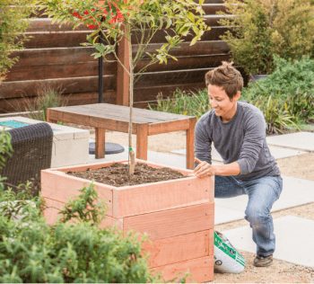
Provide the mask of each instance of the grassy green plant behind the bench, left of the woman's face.
POLYGON ((195 115, 200 118, 209 108, 207 91, 199 90, 196 93, 187 93, 178 89, 166 99, 160 94, 157 97, 157 104, 150 104, 149 108, 155 111, 195 115))

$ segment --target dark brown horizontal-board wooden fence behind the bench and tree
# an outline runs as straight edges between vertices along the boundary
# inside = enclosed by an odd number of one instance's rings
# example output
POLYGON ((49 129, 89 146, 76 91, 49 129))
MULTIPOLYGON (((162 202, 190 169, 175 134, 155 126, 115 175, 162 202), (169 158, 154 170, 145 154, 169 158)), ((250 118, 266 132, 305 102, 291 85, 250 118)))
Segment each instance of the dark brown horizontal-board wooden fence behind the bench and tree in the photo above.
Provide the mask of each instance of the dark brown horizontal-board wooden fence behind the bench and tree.
MULTIPOLYGON (((158 93, 168 96, 177 88, 203 88, 205 72, 229 58, 228 46, 219 38, 226 29, 218 25, 220 16, 215 14, 224 9, 222 0, 205 0, 204 9, 211 31, 196 45, 184 43, 173 51, 178 61, 150 67, 135 84, 135 106, 145 107, 147 102, 156 101, 158 93)), ((80 45, 89 32, 86 28, 73 31, 66 25, 60 27, 47 18, 32 18, 27 31, 31 40, 15 53, 20 59, 0 84, 0 112, 22 111, 40 89, 48 87, 63 90, 63 100, 69 105, 97 102, 98 60, 92 58, 91 48, 80 45)), ((160 33, 150 49, 161 42, 160 33)), ((117 76, 117 62, 106 62, 103 72, 104 102, 126 103, 119 94, 123 92, 123 81, 117 76)))

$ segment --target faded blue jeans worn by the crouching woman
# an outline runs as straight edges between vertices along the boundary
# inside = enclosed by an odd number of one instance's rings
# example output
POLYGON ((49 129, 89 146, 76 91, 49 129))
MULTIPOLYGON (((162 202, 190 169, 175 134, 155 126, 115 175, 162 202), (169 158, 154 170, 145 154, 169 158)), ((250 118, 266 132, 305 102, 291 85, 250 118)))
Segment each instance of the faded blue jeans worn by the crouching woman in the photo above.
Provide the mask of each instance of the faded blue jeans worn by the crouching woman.
POLYGON ((240 181, 233 176, 215 176, 214 197, 231 198, 248 194, 249 202, 245 218, 253 230, 257 255, 267 256, 275 252, 273 217, 270 210, 283 190, 280 176, 265 176, 251 181, 240 181))

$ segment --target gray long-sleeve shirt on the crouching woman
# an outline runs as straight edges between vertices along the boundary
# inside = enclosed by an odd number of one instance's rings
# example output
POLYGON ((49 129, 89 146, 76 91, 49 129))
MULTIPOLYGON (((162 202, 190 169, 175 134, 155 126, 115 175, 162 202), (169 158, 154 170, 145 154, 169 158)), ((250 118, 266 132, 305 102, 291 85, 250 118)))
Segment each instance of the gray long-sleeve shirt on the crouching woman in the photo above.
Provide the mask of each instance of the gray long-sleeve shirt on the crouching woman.
POLYGON ((275 158, 266 144, 266 122, 257 107, 237 102, 232 120, 223 123, 214 110, 206 112, 196 123, 195 154, 212 164, 212 142, 224 164, 240 165, 240 180, 247 181, 266 175, 280 175, 275 158))

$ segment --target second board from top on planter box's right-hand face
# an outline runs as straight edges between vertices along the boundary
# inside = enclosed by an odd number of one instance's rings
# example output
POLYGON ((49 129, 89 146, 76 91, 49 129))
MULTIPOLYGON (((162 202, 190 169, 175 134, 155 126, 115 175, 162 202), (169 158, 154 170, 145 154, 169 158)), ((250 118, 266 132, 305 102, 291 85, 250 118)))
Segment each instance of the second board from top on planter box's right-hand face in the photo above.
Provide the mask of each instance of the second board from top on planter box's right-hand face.
POLYGON ((185 235, 214 227, 214 203, 125 217, 124 231, 146 233, 151 240, 185 235))

